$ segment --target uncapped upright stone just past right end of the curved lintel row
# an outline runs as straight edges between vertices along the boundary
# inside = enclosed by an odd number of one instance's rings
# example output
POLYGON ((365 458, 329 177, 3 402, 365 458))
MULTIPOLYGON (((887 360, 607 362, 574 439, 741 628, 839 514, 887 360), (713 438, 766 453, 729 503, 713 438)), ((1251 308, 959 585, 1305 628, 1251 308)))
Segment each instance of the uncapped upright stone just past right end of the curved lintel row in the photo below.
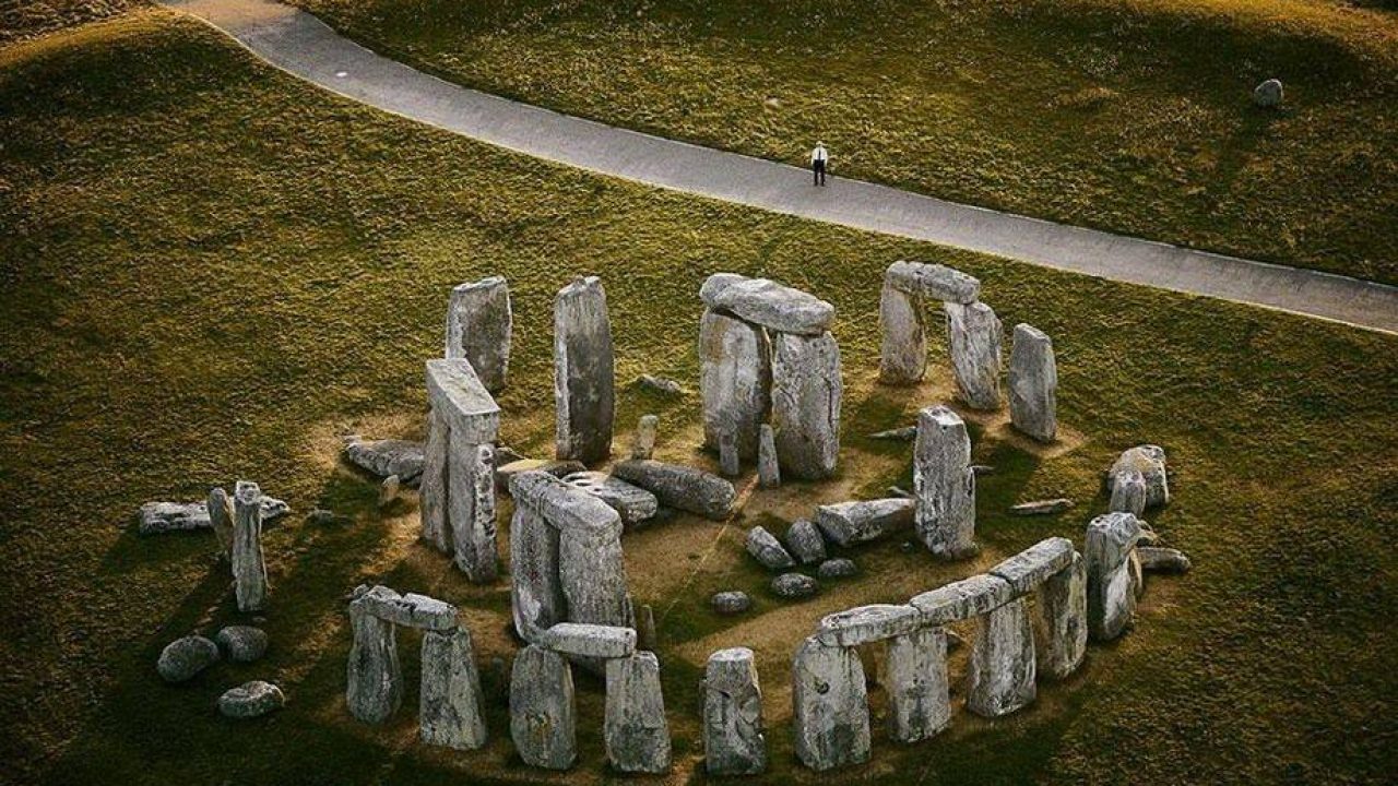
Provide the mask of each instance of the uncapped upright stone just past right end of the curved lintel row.
POLYGON ((1131 555, 1139 537, 1141 524, 1131 513, 1107 513, 1088 524, 1082 557, 1088 564, 1088 632, 1096 641, 1120 636, 1135 615, 1131 555))

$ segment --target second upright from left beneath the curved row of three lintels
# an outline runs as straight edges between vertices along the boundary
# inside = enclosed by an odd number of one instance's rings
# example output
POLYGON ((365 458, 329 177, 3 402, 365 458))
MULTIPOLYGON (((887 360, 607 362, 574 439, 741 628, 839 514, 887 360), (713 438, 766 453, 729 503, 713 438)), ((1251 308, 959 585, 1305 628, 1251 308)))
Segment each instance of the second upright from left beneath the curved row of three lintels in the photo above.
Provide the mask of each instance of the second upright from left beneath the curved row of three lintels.
POLYGON ((924 628, 895 636, 885 663, 889 736, 916 743, 946 729, 952 720, 946 634, 924 628))

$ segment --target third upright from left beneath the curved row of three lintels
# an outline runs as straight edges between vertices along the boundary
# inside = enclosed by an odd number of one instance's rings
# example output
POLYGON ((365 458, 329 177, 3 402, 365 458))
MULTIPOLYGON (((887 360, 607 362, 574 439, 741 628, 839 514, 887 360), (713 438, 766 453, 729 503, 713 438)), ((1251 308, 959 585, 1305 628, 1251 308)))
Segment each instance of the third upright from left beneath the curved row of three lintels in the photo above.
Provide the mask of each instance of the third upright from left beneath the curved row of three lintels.
POLYGON ((1000 717, 1035 701, 1035 634, 1023 597, 981 618, 970 646, 966 709, 1000 717))

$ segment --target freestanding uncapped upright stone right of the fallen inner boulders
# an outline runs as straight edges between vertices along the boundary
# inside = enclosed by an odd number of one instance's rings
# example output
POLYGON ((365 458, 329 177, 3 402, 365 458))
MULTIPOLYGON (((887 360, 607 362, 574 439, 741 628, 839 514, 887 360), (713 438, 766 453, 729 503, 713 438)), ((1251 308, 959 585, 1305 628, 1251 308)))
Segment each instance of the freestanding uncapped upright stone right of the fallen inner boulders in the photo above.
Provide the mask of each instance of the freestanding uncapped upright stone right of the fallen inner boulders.
POLYGON ((951 559, 976 550, 976 473, 970 436, 960 415, 946 407, 917 414, 913 456, 917 534, 927 548, 951 559))

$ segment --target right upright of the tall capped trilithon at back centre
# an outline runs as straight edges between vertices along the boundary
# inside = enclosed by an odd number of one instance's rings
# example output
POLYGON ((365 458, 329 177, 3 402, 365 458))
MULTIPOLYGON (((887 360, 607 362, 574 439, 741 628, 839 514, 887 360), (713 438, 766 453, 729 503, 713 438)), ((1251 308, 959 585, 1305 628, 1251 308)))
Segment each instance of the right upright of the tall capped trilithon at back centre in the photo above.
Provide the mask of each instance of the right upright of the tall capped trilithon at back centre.
POLYGON ((783 474, 821 480, 840 457, 840 347, 821 336, 772 338, 772 422, 783 474))

